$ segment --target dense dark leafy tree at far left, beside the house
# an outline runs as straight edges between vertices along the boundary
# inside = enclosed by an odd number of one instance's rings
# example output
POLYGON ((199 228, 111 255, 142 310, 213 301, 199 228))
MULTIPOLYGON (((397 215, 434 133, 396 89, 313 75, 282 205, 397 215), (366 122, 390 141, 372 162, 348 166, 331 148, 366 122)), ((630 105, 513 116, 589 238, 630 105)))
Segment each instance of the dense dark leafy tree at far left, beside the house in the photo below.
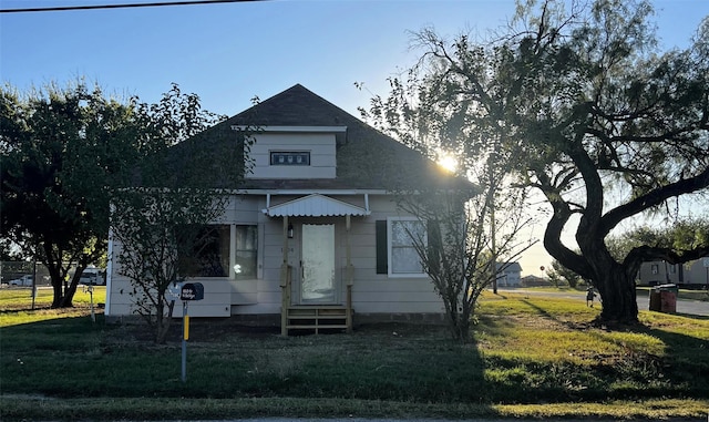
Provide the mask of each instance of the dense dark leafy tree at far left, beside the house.
POLYGON ((52 307, 71 307, 82 270, 105 255, 105 186, 123 172, 132 110, 83 83, 23 96, 3 86, 0 101, 3 244, 44 264, 52 307))

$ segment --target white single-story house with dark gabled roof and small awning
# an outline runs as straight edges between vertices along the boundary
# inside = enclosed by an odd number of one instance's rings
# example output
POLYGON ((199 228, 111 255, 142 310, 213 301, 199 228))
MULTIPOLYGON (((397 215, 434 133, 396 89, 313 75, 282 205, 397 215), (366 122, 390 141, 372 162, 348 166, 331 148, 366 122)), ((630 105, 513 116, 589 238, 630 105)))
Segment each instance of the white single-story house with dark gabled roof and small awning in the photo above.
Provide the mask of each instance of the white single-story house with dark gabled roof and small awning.
MULTIPOLYGON (((212 225, 210 245, 194 257, 208 265, 188 278, 204 286, 189 315, 280 325, 284 333, 351 329, 353 320, 442 320, 442 300, 407 235, 421 223, 393 193, 473 195, 474 187, 299 84, 219 125, 253 124, 259 131, 243 152, 253 169, 212 225)), ((133 313, 129 287, 113 263, 107 318, 133 313)))

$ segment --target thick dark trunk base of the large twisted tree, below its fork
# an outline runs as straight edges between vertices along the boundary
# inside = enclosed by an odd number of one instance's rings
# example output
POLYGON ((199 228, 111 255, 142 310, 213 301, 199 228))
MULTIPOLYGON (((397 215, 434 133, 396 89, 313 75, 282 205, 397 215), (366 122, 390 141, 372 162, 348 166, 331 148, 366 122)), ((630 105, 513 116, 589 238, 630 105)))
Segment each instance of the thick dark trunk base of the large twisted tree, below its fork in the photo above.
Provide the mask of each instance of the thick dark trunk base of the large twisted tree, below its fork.
POLYGON ((603 302, 600 321, 609 326, 638 323, 635 280, 626 275, 620 265, 612 268, 593 280, 603 302))

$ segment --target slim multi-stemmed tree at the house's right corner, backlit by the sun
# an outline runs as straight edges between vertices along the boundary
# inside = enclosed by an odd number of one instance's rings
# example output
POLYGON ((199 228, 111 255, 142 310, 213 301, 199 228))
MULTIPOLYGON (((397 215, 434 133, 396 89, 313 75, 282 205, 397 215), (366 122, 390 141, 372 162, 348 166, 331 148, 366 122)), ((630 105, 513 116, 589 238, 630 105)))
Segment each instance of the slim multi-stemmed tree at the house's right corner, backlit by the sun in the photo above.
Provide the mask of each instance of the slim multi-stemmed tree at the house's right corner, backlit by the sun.
POLYGON ((534 243, 520 239, 532 223, 522 212, 527 209, 528 192, 503 194, 517 162, 497 148, 504 131, 461 130, 460 116, 431 103, 421 105, 432 96, 412 99, 415 86, 395 79, 390 83, 389 97, 374 96, 369 110, 360 109, 362 116, 432 159, 455 155, 456 177, 465 181, 458 186, 400 188, 397 202, 422 222, 409 229, 409 237, 443 301, 452 337, 466 342, 480 295, 491 286, 496 294, 497 279, 534 243), (472 184, 482 188, 472 189, 472 184))

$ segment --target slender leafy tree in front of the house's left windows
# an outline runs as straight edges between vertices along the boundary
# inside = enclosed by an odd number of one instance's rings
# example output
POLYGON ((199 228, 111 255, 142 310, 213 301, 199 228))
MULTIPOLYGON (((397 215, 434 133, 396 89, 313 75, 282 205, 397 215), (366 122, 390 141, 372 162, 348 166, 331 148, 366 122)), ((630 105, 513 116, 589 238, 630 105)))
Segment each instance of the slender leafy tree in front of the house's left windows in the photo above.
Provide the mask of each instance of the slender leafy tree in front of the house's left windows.
POLYGON ((136 114, 145 154, 130 183, 112 192, 112 239, 135 311, 163 343, 176 299, 171 286, 185 279, 189 257, 208 243, 205 225, 223 215, 248 168, 250 138, 226 125, 209 128, 224 117, 203 111, 199 97, 177 85, 157 104, 136 104, 136 114))

